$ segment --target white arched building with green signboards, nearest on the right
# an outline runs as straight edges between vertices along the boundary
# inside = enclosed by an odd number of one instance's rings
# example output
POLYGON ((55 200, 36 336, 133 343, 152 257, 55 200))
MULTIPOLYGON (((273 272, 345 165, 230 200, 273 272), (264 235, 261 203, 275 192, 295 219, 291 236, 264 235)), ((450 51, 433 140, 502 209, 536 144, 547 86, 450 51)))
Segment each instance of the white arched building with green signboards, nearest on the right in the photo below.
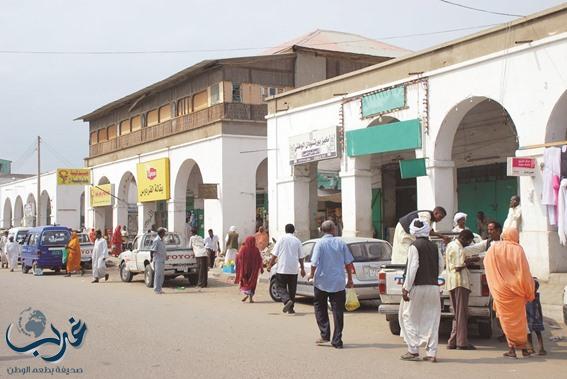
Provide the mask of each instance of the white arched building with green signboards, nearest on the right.
POLYGON ((271 234, 292 222, 313 237, 334 217, 345 236, 388 238, 400 216, 436 205, 439 230, 465 211, 476 231, 477 212, 503 222, 519 194, 532 272, 567 272, 542 204, 545 149, 567 144, 566 25, 563 5, 270 99, 271 234), (509 157, 534 158, 533 174, 508 176, 509 157), (340 202, 321 199, 321 170, 340 177, 340 202))

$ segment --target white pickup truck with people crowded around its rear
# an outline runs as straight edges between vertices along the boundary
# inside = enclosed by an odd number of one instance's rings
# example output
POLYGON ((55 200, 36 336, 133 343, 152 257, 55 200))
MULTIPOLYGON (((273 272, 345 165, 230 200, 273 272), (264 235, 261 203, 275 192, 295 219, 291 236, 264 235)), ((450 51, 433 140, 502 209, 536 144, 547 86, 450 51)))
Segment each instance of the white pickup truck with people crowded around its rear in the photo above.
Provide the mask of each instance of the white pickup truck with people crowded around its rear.
MULTIPOLYGON (((441 240, 433 240, 445 253, 445 246, 441 240)), ((386 315, 386 321, 390 326, 392 334, 400 334, 398 321, 398 309, 402 299, 402 285, 404 281, 405 265, 387 264, 383 265, 378 273, 378 290, 380 292, 381 304, 378 312, 386 315)), ((492 301, 488 282, 484 274, 482 263, 469 268, 471 279, 471 294, 469 297, 469 323, 478 325, 479 335, 490 338, 495 326, 495 316, 492 309, 492 301)), ((441 318, 453 318, 454 313, 449 299, 449 291, 444 288, 445 271, 439 276, 439 291, 441 293, 441 318)))

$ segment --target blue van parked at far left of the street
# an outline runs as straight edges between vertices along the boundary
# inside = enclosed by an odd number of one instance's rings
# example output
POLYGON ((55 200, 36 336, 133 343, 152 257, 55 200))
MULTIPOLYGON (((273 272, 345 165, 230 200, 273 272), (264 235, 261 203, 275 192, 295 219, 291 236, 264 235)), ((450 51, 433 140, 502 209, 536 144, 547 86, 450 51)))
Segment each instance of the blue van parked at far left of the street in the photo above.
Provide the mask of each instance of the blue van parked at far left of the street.
POLYGON ((34 272, 37 268, 61 271, 63 250, 71 233, 62 226, 31 228, 22 244, 22 272, 34 272))

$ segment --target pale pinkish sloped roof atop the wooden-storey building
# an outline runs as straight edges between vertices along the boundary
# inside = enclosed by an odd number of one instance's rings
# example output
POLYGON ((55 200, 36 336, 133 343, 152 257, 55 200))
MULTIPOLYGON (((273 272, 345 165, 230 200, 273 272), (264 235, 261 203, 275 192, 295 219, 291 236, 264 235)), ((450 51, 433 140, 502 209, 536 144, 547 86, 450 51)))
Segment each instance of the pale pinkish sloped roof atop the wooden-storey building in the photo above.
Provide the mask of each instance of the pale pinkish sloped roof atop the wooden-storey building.
POLYGON ((389 45, 358 34, 317 29, 280 46, 269 49, 265 51, 264 54, 291 53, 295 46, 388 58, 397 58, 411 53, 411 50, 389 45))

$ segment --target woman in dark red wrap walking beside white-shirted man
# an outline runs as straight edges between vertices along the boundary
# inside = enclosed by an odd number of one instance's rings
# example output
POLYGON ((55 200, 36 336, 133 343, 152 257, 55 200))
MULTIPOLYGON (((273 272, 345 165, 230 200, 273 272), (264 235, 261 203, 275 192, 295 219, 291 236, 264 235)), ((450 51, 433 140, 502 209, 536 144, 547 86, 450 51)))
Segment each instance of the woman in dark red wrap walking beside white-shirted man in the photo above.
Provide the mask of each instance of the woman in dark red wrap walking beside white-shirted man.
POLYGON ((262 267, 262 255, 256 247, 254 236, 246 237, 244 244, 236 255, 236 278, 235 284, 240 285, 240 291, 245 295, 243 302, 250 299, 254 302, 256 284, 258 284, 258 273, 264 272, 262 267))

